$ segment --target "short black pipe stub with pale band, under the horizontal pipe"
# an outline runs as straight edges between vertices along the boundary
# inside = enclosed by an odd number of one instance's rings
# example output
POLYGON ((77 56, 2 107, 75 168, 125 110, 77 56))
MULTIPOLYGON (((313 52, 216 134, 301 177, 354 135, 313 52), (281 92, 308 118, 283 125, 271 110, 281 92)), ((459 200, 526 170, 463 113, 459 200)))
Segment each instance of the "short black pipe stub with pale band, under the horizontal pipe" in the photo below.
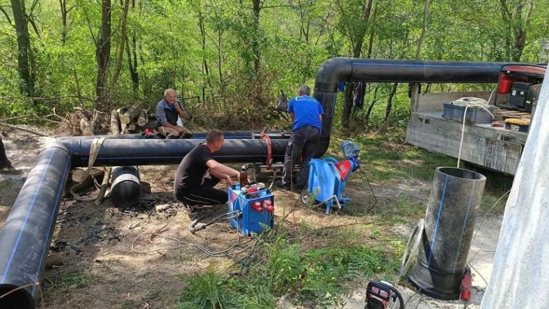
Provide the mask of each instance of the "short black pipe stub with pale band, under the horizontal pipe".
POLYGON ((110 172, 110 199, 120 208, 139 203, 141 179, 137 166, 116 166, 110 172))

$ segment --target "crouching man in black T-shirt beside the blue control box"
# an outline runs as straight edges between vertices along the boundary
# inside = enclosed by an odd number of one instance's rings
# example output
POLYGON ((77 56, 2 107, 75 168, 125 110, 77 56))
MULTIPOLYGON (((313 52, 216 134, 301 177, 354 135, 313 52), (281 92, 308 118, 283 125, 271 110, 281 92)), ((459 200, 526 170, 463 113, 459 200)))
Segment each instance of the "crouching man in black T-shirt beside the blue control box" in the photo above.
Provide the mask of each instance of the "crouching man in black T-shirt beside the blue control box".
POLYGON ((239 172, 212 158, 212 153, 223 146, 224 136, 218 130, 211 130, 206 136, 206 143, 196 146, 179 164, 176 172, 174 189, 176 198, 192 213, 205 206, 227 203, 228 196, 224 190, 215 189, 220 180, 233 185, 232 178, 239 172))

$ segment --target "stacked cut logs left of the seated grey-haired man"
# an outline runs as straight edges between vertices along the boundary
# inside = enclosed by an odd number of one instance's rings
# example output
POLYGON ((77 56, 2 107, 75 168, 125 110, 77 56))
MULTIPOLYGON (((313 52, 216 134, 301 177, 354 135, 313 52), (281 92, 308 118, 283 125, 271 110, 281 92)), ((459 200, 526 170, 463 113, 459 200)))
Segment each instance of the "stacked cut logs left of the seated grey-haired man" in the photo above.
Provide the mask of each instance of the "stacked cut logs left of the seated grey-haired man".
POLYGON ((110 134, 143 133, 156 126, 156 115, 141 108, 141 104, 121 107, 110 113, 110 134))

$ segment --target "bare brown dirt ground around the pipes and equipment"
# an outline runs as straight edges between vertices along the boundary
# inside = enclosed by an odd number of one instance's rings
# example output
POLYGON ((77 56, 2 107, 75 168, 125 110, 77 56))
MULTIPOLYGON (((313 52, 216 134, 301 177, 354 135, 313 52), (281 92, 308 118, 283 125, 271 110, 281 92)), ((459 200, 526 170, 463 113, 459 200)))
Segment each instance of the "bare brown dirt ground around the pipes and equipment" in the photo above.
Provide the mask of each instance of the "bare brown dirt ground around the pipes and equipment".
MULTIPOLYGON (((0 175, 0 227, 40 148, 51 140, 14 131, 4 139, 8 157, 16 168, 23 170, 23 174, 0 175)), ((182 275, 206 269, 223 270, 233 264, 229 258, 208 257, 193 245, 151 253, 133 251, 134 242, 137 251, 181 246, 167 238, 151 237, 150 232, 154 231, 183 242, 202 244, 212 250, 224 249, 237 238, 242 243, 248 242, 236 236, 225 222, 192 235, 187 228, 191 221, 189 216, 172 196, 175 169, 174 165, 141 167, 141 181, 150 185, 150 192, 144 190, 139 207, 133 209, 118 209, 108 198, 99 206, 71 199, 62 201, 41 283, 43 303, 40 308, 176 308, 178 293, 184 288, 180 280, 182 275), (143 233, 146 234, 136 240, 143 233)), ((425 207, 430 181, 408 179, 397 183, 373 183, 373 189, 379 200, 376 211, 396 207, 390 209, 391 214, 398 214, 398 218, 404 220, 382 225, 379 227, 381 233, 407 240, 417 223, 417 211, 398 209, 399 203, 395 201, 406 200, 408 204, 425 207)), ((371 205, 371 195, 365 183, 351 181, 347 190, 360 214, 327 216, 322 211, 296 207, 298 196, 294 193, 277 191, 275 194, 275 224, 283 217, 290 224, 306 222, 311 226, 379 220, 377 212, 364 209, 364 205, 371 205), (287 216, 290 209, 293 211, 287 216)), ((469 253, 474 266, 474 297, 469 308, 479 308, 482 292, 490 278, 502 220, 501 214, 489 214, 487 220, 480 222, 482 217, 477 222, 482 226, 469 253)), ((241 244, 239 248, 245 246, 241 244)), ((363 284, 354 286, 344 308, 364 308, 366 283, 364 280, 363 284)), ((463 308, 463 302, 438 301, 417 295, 404 286, 399 286, 399 289, 404 292, 407 308, 463 308)), ((294 307, 282 301, 279 308, 294 307)))

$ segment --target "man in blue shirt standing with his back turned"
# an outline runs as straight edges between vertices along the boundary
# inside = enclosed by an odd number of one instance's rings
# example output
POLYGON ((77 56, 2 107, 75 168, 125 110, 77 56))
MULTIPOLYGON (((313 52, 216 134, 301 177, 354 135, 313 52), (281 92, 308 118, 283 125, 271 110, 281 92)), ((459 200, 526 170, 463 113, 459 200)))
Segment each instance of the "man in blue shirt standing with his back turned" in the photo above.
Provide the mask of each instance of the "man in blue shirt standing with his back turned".
POLYGON ((297 96, 288 102, 288 113, 292 117, 292 139, 286 148, 284 157, 284 174, 278 187, 286 190, 301 192, 309 179, 309 162, 316 153, 320 130, 322 129, 322 116, 324 111, 320 102, 310 97, 311 89, 307 85, 299 87, 297 96), (293 169, 299 157, 301 170, 295 183, 292 183, 293 169))

